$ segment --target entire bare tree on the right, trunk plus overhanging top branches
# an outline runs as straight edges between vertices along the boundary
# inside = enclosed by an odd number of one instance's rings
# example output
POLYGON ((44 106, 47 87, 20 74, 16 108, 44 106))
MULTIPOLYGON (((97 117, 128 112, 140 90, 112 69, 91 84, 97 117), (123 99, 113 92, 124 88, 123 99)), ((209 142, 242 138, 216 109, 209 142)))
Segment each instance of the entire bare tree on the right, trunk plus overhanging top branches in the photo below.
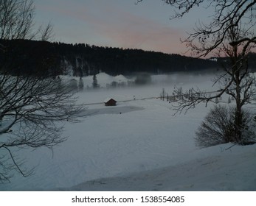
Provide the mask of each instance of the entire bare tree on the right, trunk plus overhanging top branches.
MULTIPOLYGON (((138 0, 143 1, 143 0, 138 0)), ((220 89, 210 95, 200 89, 190 89, 184 96, 189 99, 178 101, 177 111, 188 110, 200 102, 213 102, 224 93, 235 99, 235 138, 241 142, 242 107, 255 99, 255 77, 249 72, 248 54, 255 47, 256 0, 163 0, 170 4, 176 13, 172 18, 183 18, 195 7, 212 9, 210 23, 196 23, 194 32, 181 40, 189 51, 197 57, 215 54, 218 57, 228 57, 224 71, 214 79, 214 85, 220 89)), ((179 93, 174 90, 174 93, 179 93)))

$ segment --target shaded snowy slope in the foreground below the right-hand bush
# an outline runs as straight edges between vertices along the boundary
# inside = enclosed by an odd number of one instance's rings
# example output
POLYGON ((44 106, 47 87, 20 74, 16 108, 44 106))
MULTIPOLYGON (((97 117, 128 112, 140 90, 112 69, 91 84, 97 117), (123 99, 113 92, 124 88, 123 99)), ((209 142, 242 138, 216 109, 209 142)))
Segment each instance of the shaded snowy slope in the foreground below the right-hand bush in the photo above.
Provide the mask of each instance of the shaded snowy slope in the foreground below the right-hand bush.
POLYGON ((193 156, 190 160, 174 166, 92 180, 58 190, 256 191, 256 146, 225 144, 190 155, 193 156))

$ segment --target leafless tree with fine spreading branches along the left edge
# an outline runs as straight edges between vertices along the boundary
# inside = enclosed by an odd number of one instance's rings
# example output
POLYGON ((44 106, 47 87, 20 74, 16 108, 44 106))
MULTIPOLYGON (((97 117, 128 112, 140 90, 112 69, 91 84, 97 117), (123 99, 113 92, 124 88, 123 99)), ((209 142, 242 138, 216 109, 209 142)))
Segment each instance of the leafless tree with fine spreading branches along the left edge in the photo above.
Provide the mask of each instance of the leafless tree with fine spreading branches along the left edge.
MULTIPOLYGON (((32 1, 1 0, 1 40, 38 38, 41 29, 33 32, 34 10, 32 1)), ((41 32, 42 39, 50 33, 47 26, 41 32)), ((8 54, 8 49, 1 45, 1 55, 8 54)), ((32 173, 24 167, 24 160, 15 156, 16 149, 52 149, 66 140, 61 135, 61 122, 78 121, 85 109, 76 104, 77 98, 59 78, 47 73, 16 74, 12 66, 0 65, 0 182, 10 181, 15 171, 24 177, 32 173)))

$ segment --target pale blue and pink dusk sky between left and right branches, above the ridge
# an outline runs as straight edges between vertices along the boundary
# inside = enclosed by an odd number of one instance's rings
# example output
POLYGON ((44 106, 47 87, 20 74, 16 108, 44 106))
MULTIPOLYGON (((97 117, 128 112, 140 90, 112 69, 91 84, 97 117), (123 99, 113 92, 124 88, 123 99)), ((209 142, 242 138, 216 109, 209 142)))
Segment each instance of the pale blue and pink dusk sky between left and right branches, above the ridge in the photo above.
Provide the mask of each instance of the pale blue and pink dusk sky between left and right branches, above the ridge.
POLYGON ((209 17, 198 8, 170 20, 173 9, 161 0, 35 0, 35 21, 54 27, 54 41, 88 43, 184 54, 180 38, 209 17))

